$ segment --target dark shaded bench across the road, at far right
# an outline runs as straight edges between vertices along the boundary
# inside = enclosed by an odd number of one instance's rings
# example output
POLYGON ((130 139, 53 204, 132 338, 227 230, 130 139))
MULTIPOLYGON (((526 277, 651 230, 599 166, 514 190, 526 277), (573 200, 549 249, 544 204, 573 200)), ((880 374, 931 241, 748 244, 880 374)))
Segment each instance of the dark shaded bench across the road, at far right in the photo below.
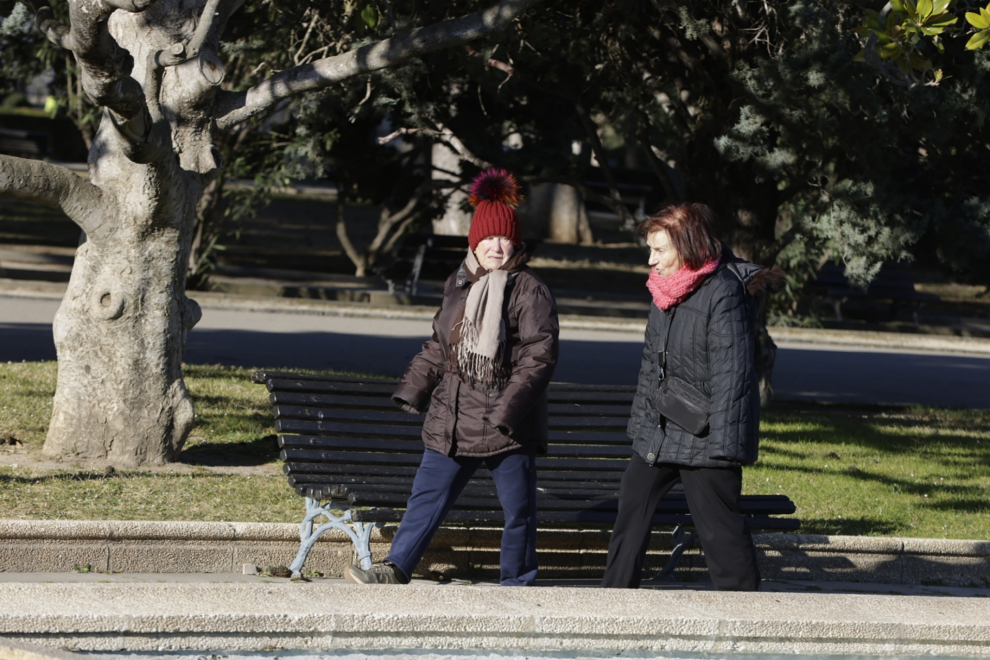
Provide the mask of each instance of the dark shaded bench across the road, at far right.
POLYGON ((842 305, 849 300, 890 303, 889 319, 893 320, 902 307, 911 310, 918 324, 918 309, 925 303, 938 302, 931 293, 921 293, 914 288, 911 265, 904 261, 885 262, 866 289, 855 287, 845 275, 841 264, 827 263, 818 271, 811 283, 811 293, 825 304, 831 305, 836 320, 843 320, 842 305))

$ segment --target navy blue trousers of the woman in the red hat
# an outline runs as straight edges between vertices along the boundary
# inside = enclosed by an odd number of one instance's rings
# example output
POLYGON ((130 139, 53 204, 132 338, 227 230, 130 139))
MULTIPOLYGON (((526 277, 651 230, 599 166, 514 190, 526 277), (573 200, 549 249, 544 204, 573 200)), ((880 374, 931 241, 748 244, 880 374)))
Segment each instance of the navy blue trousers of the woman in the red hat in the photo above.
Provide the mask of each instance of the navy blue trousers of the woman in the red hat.
POLYGON ((411 576, 450 507, 482 465, 491 472, 505 514, 500 582, 507 587, 534 584, 537 570, 534 447, 485 458, 444 456, 430 449, 423 452, 406 513, 385 561, 411 576))

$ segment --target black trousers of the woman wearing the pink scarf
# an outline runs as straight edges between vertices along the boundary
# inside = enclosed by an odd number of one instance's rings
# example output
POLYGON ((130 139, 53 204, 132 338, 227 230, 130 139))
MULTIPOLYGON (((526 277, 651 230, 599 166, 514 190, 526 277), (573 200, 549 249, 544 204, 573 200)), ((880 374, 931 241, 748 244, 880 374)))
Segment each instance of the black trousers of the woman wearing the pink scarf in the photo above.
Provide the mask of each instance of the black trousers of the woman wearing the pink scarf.
POLYGON ((756 547, 739 509, 742 468, 690 468, 650 465, 633 454, 622 476, 619 515, 608 544, 601 586, 636 589, 650 544, 653 514, 680 478, 691 518, 705 552, 705 563, 720 591, 757 591, 760 569, 756 547))

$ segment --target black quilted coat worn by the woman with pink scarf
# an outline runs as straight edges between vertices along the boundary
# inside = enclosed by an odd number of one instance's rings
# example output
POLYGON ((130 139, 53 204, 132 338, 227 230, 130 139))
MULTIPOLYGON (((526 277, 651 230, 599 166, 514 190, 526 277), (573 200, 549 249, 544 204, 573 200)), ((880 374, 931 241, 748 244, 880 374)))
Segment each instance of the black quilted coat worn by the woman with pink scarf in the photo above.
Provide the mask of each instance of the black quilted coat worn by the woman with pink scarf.
POLYGON ((656 305, 650 308, 627 428, 633 450, 647 463, 710 468, 756 461, 760 426, 752 334, 756 304, 746 296, 743 282, 750 283, 763 267, 731 254, 726 257, 679 304, 666 311, 656 305), (727 267, 727 260, 734 262, 739 276, 727 267), (668 333, 666 374, 679 376, 712 399, 709 425, 700 435, 685 431, 654 408, 668 333))

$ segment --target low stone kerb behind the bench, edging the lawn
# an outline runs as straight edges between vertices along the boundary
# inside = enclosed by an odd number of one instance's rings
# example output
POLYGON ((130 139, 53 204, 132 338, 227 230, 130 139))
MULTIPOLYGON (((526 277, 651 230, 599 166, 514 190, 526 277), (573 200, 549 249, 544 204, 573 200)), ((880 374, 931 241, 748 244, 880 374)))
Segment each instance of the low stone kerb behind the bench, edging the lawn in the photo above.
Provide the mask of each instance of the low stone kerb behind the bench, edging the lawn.
MULTIPOLYGON (((376 528, 372 552, 388 552, 395 525, 376 528)), ((498 569, 499 528, 441 528, 420 564, 424 575, 488 575, 498 569)), ((990 585, 990 542, 808 534, 757 534, 764 577, 887 584, 990 585)), ((605 566, 608 530, 541 530, 546 577, 593 576, 605 566)), ((245 563, 288 565, 299 547, 292 523, 0 520, 0 571, 91 570, 140 573, 237 573, 245 563)), ((669 532, 655 532, 650 568, 662 567, 669 532)), ((339 576, 353 561, 350 539, 331 530, 306 568, 339 576)), ((703 577, 704 558, 691 551, 682 578, 703 577)))

